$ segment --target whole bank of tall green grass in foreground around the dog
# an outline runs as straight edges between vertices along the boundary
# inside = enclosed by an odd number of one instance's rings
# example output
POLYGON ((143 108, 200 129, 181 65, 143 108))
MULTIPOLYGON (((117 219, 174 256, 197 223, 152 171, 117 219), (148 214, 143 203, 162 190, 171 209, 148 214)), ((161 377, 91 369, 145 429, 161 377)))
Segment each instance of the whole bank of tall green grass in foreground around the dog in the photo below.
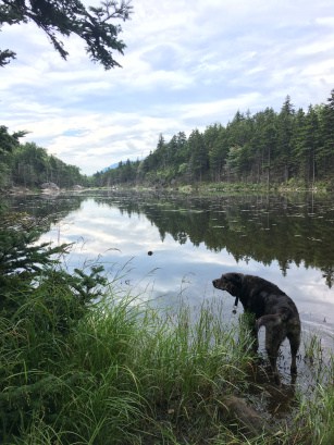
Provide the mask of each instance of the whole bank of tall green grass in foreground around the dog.
POLYGON ((255 363, 246 324, 226 326, 221 302, 134 302, 111 288, 62 330, 39 289, 0 319, 2 444, 333 443, 334 391, 316 381, 312 401, 296 392, 289 420, 256 416, 263 431, 226 415, 230 396, 251 406, 255 363))

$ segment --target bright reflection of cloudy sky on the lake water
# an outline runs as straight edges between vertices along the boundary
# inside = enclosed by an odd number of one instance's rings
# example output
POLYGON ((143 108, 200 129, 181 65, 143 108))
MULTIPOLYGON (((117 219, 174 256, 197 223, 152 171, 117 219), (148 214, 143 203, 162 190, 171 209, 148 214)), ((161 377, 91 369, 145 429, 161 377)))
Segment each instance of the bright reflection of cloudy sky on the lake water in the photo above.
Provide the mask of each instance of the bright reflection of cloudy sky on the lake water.
POLYGON ((252 259, 236 262, 226 250, 214 252, 203 243, 194 246, 187 240, 181 245, 169 234, 162 240, 158 228, 143 213, 122 213, 116 207, 88 199, 79 211, 70 213, 42 237, 50 239, 76 243, 66 264, 81 268, 100 262, 117 277, 117 285, 125 293, 161 297, 165 302, 182 293, 194 304, 215 296, 232 309, 233 299, 214 289, 212 280, 238 271, 277 284, 296 301, 307 323, 323 327, 325 318, 326 326, 334 326, 333 291, 325 286, 320 271, 289 264, 283 276, 276 261, 269 267, 252 259), (148 256, 149 250, 152 256, 148 256))

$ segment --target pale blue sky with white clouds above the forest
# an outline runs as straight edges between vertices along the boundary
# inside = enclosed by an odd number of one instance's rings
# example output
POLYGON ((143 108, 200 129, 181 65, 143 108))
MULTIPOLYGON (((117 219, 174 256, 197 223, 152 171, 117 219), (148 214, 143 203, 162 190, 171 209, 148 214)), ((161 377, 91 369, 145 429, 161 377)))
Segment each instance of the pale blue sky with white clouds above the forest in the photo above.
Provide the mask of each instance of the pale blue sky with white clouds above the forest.
MULTIPOLYGON (((100 1, 84 0, 86 5, 100 1)), ((1 1, 0 1, 1 3, 1 1)), ((143 159, 178 132, 226 125, 286 96, 295 109, 334 88, 332 0, 133 0, 121 22, 122 69, 94 64, 78 38, 67 61, 34 24, 4 25, 0 125, 83 174, 143 159)), ((114 23, 116 24, 116 23, 114 23)))

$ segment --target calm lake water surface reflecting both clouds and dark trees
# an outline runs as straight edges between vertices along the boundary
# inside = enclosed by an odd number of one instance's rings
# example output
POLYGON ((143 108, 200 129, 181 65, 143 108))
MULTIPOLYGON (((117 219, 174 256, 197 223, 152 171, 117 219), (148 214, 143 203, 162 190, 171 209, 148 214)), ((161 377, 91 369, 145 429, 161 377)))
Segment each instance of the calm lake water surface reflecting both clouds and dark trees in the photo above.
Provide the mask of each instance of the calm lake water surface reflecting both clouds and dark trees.
POLYGON ((119 292, 157 305, 172 306, 181 295, 194 306, 222 298, 233 318, 234 299, 212 280, 230 271, 265 277, 294 298, 304 331, 321 333, 327 347, 334 333, 332 198, 110 191, 11 203, 53 215, 42 240, 75 243, 65 258, 70 269, 102 263, 119 292))

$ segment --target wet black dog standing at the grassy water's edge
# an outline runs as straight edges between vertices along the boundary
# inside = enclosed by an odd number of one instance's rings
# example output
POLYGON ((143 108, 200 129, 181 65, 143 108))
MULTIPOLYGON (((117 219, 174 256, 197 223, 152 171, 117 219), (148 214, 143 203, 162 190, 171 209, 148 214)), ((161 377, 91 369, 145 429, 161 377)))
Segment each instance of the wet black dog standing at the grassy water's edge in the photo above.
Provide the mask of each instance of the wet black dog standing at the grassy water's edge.
POLYGON ((226 273, 213 280, 213 286, 227 291, 244 306, 245 312, 255 314, 255 345, 258 347, 258 331, 265 326, 265 349, 275 382, 281 380, 277 371, 277 355, 287 337, 292 349, 292 374, 297 373, 296 355, 300 345, 300 320, 294 301, 275 284, 253 275, 226 273))

